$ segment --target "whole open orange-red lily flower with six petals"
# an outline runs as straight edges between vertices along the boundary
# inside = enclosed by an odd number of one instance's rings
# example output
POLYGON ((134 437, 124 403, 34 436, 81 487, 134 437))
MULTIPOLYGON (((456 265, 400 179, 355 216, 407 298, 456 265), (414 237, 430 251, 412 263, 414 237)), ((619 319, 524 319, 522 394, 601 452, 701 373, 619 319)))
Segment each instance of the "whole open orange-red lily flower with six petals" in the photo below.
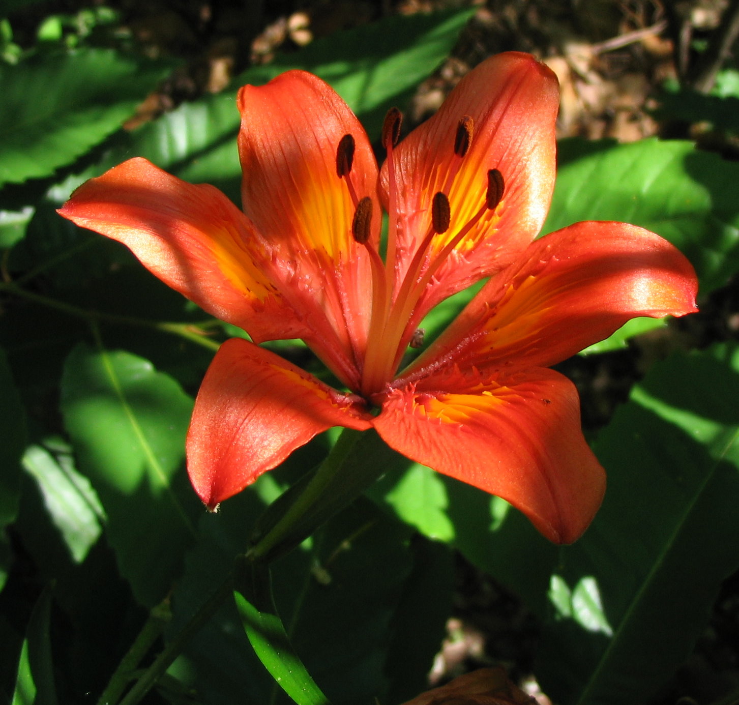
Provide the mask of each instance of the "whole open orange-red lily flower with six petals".
POLYGON ((374 427, 393 449, 523 511, 549 539, 585 531, 605 473, 579 399, 548 369, 634 316, 695 310, 670 243, 581 222, 535 239, 554 188, 554 74, 489 58, 380 169, 367 134, 319 78, 290 71, 239 91, 239 211, 132 159, 81 185, 60 213, 126 244, 204 310, 246 330, 205 375, 188 471, 209 508, 331 426, 374 427), (389 217, 381 255, 381 214, 389 217), (423 316, 488 282, 406 369, 423 316), (263 347, 302 338, 349 391, 263 347))

